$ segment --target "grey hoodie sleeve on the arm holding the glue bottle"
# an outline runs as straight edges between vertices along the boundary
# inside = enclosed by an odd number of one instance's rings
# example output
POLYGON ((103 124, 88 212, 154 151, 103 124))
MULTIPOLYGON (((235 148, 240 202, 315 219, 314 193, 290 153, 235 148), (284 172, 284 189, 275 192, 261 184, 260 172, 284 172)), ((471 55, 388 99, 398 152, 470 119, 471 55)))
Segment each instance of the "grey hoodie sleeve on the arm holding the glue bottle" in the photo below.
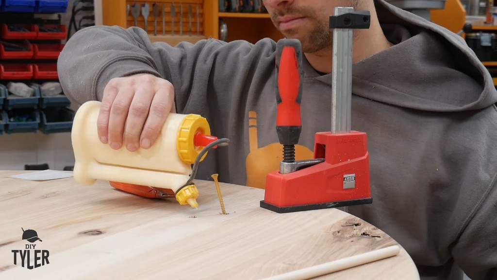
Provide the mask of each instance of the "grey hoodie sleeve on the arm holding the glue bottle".
POLYGON ((202 114, 213 95, 233 102, 243 98, 252 79, 267 79, 274 70, 274 50, 270 39, 251 44, 209 38, 170 46, 150 42, 138 27, 92 26, 68 40, 58 72, 64 92, 78 104, 101 100, 112 78, 150 73, 173 84, 178 113, 188 107, 202 114))

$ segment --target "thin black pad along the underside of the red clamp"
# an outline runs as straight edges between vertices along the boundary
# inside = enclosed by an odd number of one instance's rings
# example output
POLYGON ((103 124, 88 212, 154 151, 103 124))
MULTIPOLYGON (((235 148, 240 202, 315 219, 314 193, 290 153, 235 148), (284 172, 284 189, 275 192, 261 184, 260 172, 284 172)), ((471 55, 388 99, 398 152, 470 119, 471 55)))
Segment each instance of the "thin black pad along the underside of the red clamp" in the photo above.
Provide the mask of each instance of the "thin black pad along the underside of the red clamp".
POLYGON ((373 199, 370 198, 362 198, 362 199, 353 199, 353 200, 345 200, 345 201, 335 201, 335 202, 326 202, 326 203, 315 203, 315 204, 307 204, 307 205, 296 205, 296 206, 286 206, 279 207, 273 205, 271 203, 267 203, 264 200, 260 201, 260 207, 282 214, 282 213, 291 213, 291 212, 299 212, 299 211, 309 211, 309 210, 318 210, 318 209, 328 209, 328 208, 336 208, 336 207, 345 207, 352 205, 360 205, 360 204, 371 204, 373 199))

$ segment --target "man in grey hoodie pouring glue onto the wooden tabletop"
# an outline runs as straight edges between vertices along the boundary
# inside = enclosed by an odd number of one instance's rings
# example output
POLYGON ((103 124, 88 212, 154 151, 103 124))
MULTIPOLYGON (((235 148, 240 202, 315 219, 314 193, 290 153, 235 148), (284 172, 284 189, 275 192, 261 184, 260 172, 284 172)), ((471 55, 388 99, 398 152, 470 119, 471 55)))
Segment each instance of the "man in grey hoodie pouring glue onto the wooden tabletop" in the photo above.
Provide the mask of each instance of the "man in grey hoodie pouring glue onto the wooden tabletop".
MULTIPOLYGON (((335 6, 371 11, 370 29, 354 31, 352 129, 368 135, 373 203, 350 212, 396 239, 423 279, 462 279, 459 268, 497 278, 497 93, 465 42, 385 0, 264 3, 305 52, 300 159, 331 127, 328 18, 335 6)), ((59 75, 75 103, 102 101, 98 135, 112 148, 149 148, 168 112, 200 114, 231 142, 209 153, 197 178, 219 172, 263 188, 281 160, 275 47, 270 39, 171 47, 139 28, 98 26, 69 40, 59 75)))

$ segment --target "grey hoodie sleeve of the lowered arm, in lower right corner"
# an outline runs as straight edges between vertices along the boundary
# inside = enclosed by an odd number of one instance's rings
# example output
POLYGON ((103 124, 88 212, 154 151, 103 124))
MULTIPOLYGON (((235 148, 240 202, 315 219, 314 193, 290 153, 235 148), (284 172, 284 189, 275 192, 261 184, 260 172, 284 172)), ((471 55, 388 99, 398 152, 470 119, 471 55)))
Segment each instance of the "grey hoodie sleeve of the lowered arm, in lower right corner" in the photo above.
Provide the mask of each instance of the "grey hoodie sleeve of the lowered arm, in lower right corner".
MULTIPOLYGON (((497 176, 453 244, 456 264, 472 280, 497 279, 497 176)), ((475 188, 476 189, 476 188, 475 188)))

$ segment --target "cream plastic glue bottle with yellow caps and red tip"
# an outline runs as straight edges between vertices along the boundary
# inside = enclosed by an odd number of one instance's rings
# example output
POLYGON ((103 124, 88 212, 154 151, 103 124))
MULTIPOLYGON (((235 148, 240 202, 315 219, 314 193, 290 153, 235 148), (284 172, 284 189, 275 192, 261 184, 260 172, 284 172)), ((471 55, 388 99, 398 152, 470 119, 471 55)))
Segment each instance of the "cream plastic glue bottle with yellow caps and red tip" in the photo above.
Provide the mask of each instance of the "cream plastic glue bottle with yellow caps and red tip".
POLYGON ((150 148, 131 152, 123 145, 115 150, 98 138, 100 106, 99 101, 88 101, 76 112, 71 135, 74 179, 85 185, 100 179, 168 189, 175 193, 181 205, 198 207, 197 187, 185 183, 192 173, 191 164, 202 148, 217 140, 210 136, 207 120, 194 114, 170 113, 150 148))

